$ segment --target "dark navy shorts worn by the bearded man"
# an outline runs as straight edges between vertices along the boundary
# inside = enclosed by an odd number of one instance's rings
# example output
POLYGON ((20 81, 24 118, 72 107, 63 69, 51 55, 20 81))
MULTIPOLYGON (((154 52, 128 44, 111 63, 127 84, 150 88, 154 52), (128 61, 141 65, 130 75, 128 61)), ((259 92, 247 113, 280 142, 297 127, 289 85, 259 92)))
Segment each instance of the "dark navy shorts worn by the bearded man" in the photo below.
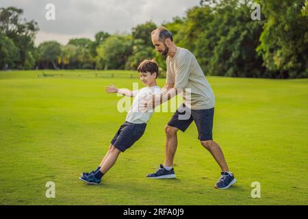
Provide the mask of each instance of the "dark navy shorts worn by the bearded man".
POLYGON ((190 110, 182 104, 170 119, 168 126, 185 131, 192 121, 198 129, 198 139, 201 141, 213 140, 214 107, 208 110, 190 110))

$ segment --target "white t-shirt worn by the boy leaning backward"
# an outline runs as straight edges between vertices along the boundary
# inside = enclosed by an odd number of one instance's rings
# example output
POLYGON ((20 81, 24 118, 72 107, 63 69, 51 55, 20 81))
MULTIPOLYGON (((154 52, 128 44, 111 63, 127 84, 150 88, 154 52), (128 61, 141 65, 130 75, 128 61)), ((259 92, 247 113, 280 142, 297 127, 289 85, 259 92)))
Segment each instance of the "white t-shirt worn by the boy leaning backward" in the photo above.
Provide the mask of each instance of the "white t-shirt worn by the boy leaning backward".
POLYGON ((161 89, 159 86, 144 87, 140 90, 134 90, 133 96, 135 98, 133 99, 133 104, 129 108, 129 112, 127 113, 125 120, 129 123, 135 124, 146 123, 153 115, 154 110, 151 110, 152 112, 141 112, 141 110, 139 110, 140 104, 142 103, 142 100, 148 99, 152 95, 160 93, 161 89))

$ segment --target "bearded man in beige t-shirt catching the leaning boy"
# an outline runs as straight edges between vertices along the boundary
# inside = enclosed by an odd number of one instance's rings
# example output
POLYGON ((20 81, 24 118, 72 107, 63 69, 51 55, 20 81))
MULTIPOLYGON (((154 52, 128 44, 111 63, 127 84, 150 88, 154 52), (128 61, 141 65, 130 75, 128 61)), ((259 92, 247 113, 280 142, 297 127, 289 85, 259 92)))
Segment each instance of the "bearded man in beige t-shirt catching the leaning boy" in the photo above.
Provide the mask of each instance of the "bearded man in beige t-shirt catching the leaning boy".
POLYGON ((213 155, 222 170, 215 188, 229 188, 236 179, 229 171, 220 146, 212 138, 215 97, 203 70, 190 51, 175 45, 172 33, 165 27, 155 29, 151 33, 151 39, 156 51, 164 56, 168 55, 166 58, 166 85, 162 88, 160 96, 153 96, 153 98, 144 101, 143 110, 150 110, 181 92, 184 103, 165 127, 166 155, 164 165, 161 164, 159 170, 147 177, 151 179, 175 178, 173 159, 177 150, 177 131, 185 131, 194 121, 198 129, 198 139, 205 149, 213 155))

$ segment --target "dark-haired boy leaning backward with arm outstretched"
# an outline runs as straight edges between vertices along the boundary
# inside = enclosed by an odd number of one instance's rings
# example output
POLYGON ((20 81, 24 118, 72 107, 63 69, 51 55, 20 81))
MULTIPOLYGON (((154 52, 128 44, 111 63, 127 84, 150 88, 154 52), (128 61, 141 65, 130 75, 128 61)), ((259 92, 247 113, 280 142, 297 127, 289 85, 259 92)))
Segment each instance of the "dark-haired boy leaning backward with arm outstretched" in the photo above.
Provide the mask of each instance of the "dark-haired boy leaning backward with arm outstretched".
POLYGON ((119 93, 125 96, 134 96, 133 104, 127 113, 125 123, 120 126, 116 135, 111 141, 110 148, 103 158, 101 164, 96 170, 83 172, 81 181, 89 184, 99 184, 101 177, 114 166, 116 159, 121 152, 129 149, 141 136, 146 129, 146 122, 151 118, 153 112, 141 112, 139 110, 141 101, 153 94, 160 94, 160 88, 157 86, 158 66, 154 60, 144 60, 138 66, 140 79, 146 86, 140 90, 118 89, 113 85, 105 88, 107 93, 119 93))

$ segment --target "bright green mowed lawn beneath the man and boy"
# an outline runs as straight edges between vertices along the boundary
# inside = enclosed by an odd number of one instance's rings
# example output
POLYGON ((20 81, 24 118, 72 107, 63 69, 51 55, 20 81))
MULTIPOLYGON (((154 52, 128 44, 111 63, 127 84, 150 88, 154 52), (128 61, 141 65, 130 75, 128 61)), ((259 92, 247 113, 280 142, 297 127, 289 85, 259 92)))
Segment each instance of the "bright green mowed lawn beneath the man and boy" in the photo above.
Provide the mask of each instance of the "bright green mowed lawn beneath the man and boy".
MULTIPOLYGON (((164 126, 172 112, 153 115, 101 185, 80 181, 125 120, 117 110, 122 97, 106 94, 105 86, 132 89, 138 73, 45 73, 67 77, 0 72, 0 205, 308 204, 308 79, 207 77, 216 94, 214 140, 238 180, 216 190, 220 168, 198 142, 194 123, 178 135, 177 178, 146 179, 164 162, 164 126), (48 181, 55 183, 55 198, 45 196, 48 181), (251 197, 255 181, 261 198, 251 197)), ((164 79, 158 83, 164 86, 164 79)))

